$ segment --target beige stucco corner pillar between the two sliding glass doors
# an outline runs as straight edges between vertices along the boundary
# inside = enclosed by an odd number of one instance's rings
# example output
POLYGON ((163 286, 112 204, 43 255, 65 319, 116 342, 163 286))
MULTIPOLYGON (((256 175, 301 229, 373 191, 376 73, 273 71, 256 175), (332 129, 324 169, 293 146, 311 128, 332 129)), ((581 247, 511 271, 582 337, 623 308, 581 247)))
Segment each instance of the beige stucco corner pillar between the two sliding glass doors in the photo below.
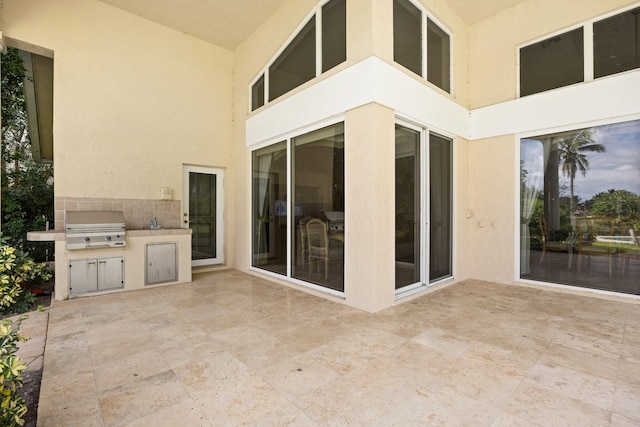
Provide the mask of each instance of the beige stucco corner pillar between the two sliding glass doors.
POLYGON ((345 296, 370 312, 394 300, 394 124, 394 111, 379 104, 346 116, 345 296))

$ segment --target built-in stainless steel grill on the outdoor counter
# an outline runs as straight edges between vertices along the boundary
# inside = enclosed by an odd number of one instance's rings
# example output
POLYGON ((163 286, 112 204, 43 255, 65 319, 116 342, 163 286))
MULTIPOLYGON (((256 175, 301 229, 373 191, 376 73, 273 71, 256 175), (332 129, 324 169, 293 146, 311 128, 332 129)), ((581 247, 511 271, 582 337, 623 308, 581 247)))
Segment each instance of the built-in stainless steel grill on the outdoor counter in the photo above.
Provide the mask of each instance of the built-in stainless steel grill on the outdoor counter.
POLYGON ((68 250, 127 245, 120 211, 67 211, 65 231, 68 250))

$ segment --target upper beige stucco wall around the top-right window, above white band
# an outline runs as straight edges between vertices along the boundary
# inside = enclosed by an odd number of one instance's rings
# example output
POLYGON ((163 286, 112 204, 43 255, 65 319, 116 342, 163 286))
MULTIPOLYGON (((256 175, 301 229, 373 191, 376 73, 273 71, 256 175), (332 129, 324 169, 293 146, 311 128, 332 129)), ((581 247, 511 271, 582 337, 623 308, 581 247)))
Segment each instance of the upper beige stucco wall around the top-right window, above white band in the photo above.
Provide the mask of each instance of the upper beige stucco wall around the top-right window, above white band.
POLYGON ((516 97, 517 49, 637 0, 527 0, 470 27, 469 106, 516 97))

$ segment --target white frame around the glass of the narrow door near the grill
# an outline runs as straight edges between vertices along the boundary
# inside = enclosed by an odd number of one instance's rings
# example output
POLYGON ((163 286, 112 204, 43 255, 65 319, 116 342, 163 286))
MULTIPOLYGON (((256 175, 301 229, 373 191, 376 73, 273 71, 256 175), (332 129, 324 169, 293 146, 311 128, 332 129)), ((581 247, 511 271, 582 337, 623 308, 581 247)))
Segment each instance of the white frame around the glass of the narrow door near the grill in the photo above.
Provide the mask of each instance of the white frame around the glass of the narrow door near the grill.
POLYGON ((191 267, 202 267, 224 263, 224 169, 208 166, 182 165, 182 228, 190 228, 189 220, 189 174, 216 175, 216 257, 191 260, 191 267))

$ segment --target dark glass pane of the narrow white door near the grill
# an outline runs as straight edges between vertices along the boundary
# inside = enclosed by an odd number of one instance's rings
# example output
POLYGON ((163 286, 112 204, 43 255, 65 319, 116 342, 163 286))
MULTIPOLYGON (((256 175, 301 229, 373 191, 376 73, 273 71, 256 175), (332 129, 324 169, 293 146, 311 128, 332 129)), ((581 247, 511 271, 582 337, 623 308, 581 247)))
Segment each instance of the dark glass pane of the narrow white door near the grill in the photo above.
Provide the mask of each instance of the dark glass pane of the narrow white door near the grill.
POLYGON ((216 179, 214 174, 189 172, 191 259, 216 258, 216 179))

